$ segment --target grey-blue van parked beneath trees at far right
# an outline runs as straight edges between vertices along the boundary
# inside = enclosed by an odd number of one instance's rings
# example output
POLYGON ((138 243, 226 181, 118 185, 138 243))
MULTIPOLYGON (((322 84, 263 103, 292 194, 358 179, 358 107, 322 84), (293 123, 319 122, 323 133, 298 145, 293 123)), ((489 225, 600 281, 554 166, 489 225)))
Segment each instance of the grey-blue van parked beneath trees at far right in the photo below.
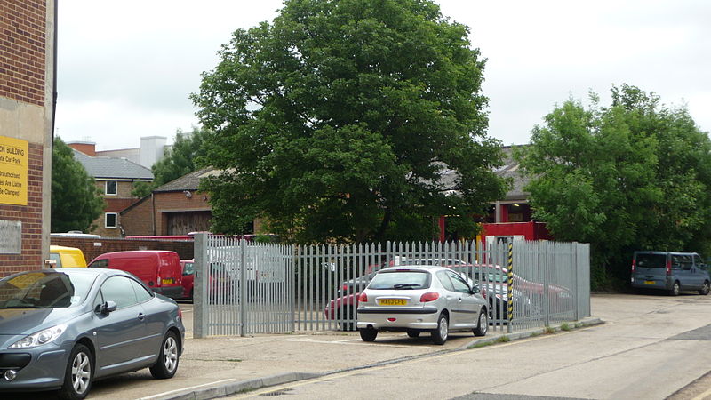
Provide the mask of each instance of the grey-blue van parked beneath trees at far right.
POLYGON ((632 287, 659 289, 676 296, 681 291, 708 294, 707 265, 695 252, 635 252, 632 287))

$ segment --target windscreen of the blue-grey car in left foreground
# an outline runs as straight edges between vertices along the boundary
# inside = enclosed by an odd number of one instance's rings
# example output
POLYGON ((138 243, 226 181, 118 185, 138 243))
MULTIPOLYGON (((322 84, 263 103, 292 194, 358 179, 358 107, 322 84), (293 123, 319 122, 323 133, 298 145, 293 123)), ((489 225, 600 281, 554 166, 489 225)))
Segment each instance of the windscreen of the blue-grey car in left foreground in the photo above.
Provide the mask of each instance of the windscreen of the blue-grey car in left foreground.
POLYGON ((86 298, 96 276, 26 272, 0 280, 0 308, 68 308, 86 298))

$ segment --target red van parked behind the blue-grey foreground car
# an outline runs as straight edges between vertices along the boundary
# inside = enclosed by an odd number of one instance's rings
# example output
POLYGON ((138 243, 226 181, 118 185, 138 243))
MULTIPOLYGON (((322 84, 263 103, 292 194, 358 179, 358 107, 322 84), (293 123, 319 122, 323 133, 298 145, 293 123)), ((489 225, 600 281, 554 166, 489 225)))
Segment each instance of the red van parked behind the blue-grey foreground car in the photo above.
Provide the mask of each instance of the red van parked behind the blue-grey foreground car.
POLYGON ((105 252, 93 259, 88 267, 121 269, 132 273, 144 284, 148 284, 153 292, 172 299, 182 298, 182 268, 177 252, 165 250, 105 252))

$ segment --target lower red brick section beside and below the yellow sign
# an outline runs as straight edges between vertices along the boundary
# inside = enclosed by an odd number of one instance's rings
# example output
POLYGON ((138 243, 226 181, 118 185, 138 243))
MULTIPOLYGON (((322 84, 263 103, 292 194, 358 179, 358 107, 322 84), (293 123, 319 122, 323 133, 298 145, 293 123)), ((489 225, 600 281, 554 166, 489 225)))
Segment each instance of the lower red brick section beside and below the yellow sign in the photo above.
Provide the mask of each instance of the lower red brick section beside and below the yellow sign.
POLYGON ((0 254, 0 277, 43 267, 42 155, 43 146, 28 144, 28 205, 0 204, 0 219, 22 223, 20 254, 0 254))

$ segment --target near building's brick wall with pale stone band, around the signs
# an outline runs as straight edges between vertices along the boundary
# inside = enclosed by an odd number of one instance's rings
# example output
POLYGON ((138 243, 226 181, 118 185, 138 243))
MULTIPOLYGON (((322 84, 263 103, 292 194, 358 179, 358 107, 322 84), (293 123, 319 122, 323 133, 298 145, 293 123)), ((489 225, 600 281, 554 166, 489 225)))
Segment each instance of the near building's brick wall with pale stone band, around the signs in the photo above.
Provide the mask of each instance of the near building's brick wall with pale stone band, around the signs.
POLYGON ((47 150, 51 117, 45 114, 46 105, 50 104, 45 84, 48 69, 51 72, 46 53, 51 46, 45 42, 49 41, 46 4, 51 3, 0 1, 0 135, 28 141, 28 204, 0 204, 1 220, 21 223, 21 251, 0 254, 0 276, 42 268, 46 251, 43 235, 49 227, 43 212, 48 212, 49 207, 43 203, 43 196, 47 199, 49 194, 43 192, 43 187, 48 190, 44 179, 49 179, 50 168, 43 168, 43 164, 51 159, 47 150))

